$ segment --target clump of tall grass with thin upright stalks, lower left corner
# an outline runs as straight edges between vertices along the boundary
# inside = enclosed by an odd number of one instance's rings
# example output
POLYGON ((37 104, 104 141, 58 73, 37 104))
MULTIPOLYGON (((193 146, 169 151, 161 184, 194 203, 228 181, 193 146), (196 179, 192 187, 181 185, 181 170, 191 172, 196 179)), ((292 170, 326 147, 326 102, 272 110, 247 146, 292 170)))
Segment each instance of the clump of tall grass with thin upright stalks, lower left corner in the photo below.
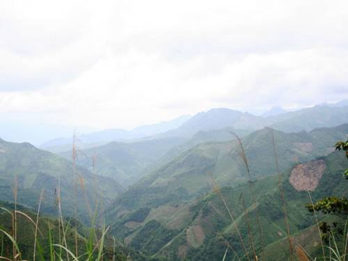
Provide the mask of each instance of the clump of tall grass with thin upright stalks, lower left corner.
MULTIPOLYGON (((74 134, 74 140, 75 140, 74 134)), ((40 193, 40 198, 38 200, 38 209, 35 214, 32 212, 26 214, 17 209, 17 196, 18 196, 18 182, 17 176, 15 176, 15 182, 13 184, 13 197, 14 197, 14 207, 9 209, 6 207, 0 207, 1 212, 5 212, 10 217, 9 228, 0 227, 0 260, 10 260, 10 261, 22 261, 22 254, 20 246, 22 245, 22 238, 18 237, 19 230, 30 231, 27 229, 27 224, 24 223, 23 226, 18 226, 18 215, 23 216, 24 219, 29 221, 33 226, 33 234, 30 238, 32 241, 26 242, 26 255, 32 253, 29 260, 40 260, 40 261, 102 261, 107 256, 107 260, 116 261, 116 239, 113 239, 113 246, 106 246, 106 241, 111 242, 107 233, 109 232, 109 227, 105 226, 104 223, 104 211, 102 206, 102 200, 100 198, 100 193, 97 193, 97 187, 95 185, 95 180, 93 180, 93 202, 94 209, 90 207, 90 200, 86 193, 86 188, 84 186, 84 180, 79 173, 77 173, 77 146, 75 141, 72 145, 72 176, 74 182, 74 221, 71 223, 65 218, 62 210, 62 200, 61 200, 61 176, 58 174, 58 184, 54 190, 56 197, 56 209, 57 209, 57 219, 52 219, 50 217, 42 216, 41 208, 42 201, 44 200, 44 190, 42 189, 40 193), (78 183, 79 182, 79 183, 78 183), (88 210, 88 215, 90 217, 90 227, 84 230, 89 232, 79 233, 79 221, 77 212, 77 195, 79 193, 79 188, 81 188, 81 193, 84 193, 84 198, 86 202, 86 208, 88 210), (99 195, 99 196, 98 196, 99 195), (35 216, 31 218, 31 216, 35 216), (98 224, 97 217, 101 216, 101 222, 98 224), (35 219, 35 221, 33 220, 35 219), (58 226, 54 226, 57 222, 58 226), (73 226, 71 226, 73 225, 73 226), (40 226, 43 228, 47 227, 47 232, 43 233, 40 230, 40 226), (8 231, 10 229, 10 231, 8 231), (106 240, 107 237, 107 240, 106 240), (28 245, 28 243, 30 244, 28 245), (11 246, 12 253, 6 253, 5 245, 11 246), (46 249, 45 249, 45 247, 46 249), (32 247, 32 251, 30 248, 32 247), (47 250, 48 248, 48 250, 47 250), (112 255, 110 255, 112 251, 112 255)), ((93 175, 95 175, 94 165, 95 159, 93 159, 93 175)), ((21 233, 22 235, 22 233, 21 233)), ((26 235, 27 236, 27 235, 26 235)), ((29 235, 28 235, 29 236, 29 235)), ((24 250, 23 250, 24 251, 24 250)))

